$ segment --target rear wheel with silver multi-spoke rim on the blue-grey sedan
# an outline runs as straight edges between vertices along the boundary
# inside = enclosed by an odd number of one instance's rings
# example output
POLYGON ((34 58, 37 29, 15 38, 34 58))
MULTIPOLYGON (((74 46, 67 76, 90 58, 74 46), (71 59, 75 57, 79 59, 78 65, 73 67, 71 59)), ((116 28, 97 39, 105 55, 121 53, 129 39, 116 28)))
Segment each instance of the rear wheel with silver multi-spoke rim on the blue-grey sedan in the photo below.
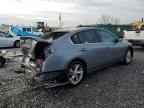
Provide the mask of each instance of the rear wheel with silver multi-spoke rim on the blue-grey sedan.
POLYGON ((82 62, 72 62, 66 70, 69 84, 72 86, 78 85, 84 78, 85 70, 82 62))

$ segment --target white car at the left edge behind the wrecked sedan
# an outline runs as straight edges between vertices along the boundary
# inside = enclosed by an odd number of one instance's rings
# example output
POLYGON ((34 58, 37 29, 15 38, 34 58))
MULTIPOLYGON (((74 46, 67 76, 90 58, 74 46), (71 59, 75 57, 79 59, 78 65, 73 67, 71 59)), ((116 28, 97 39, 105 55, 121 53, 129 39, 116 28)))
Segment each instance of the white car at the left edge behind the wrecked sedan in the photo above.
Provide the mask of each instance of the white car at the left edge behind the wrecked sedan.
POLYGON ((0 31, 0 47, 20 47, 20 37, 0 31))

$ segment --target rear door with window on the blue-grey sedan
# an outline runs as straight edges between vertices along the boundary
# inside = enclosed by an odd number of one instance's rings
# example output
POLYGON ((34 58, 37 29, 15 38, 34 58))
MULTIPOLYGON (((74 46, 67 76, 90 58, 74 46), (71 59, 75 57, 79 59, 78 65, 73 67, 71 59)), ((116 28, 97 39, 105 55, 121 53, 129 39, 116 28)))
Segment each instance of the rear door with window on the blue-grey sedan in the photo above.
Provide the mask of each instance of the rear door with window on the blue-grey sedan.
POLYGON ((71 37, 79 48, 81 57, 87 62, 91 70, 105 64, 108 48, 101 44, 96 30, 86 30, 71 37))

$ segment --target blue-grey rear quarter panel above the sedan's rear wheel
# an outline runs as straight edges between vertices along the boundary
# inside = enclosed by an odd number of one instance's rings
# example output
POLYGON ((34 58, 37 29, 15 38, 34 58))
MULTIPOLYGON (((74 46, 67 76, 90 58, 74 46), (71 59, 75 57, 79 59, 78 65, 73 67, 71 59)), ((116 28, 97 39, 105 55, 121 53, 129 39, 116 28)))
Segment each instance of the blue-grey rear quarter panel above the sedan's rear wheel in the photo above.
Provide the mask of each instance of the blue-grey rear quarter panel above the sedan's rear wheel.
POLYGON ((56 53, 45 60, 42 72, 65 70, 72 60, 83 59, 80 56, 79 47, 74 47, 68 37, 55 41, 51 48, 55 49, 56 53))

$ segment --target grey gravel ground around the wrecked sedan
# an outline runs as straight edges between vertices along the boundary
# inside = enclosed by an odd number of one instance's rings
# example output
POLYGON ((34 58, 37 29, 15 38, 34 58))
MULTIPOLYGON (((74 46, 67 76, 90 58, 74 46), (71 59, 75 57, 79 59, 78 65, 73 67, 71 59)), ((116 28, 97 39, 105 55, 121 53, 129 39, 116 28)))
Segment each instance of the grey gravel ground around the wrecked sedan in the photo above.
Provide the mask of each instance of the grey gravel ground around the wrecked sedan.
POLYGON ((35 90, 14 64, 0 69, 0 108, 144 108, 144 51, 133 62, 99 70, 77 87, 35 90))

